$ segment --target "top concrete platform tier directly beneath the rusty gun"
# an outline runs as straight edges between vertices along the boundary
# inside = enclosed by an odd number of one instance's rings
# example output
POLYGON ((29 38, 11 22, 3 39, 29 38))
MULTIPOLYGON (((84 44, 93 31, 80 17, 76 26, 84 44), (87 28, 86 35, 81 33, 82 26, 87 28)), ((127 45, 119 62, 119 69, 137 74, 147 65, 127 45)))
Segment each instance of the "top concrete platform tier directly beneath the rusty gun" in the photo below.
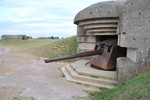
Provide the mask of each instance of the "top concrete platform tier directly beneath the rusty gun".
POLYGON ((79 75, 96 76, 102 79, 117 81, 116 71, 105 71, 91 68, 89 60, 79 60, 70 64, 70 66, 75 69, 79 75))

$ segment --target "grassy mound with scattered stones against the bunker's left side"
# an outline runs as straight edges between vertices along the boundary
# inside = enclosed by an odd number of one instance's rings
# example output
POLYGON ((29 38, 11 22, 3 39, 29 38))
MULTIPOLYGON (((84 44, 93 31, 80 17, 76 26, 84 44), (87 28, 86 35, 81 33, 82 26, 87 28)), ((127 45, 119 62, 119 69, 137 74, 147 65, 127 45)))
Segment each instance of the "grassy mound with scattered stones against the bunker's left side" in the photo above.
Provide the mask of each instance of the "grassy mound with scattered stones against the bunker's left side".
MULTIPOLYGON (((35 52, 36 55, 44 56, 48 58, 66 56, 75 54, 77 51, 77 36, 65 38, 59 41, 55 41, 51 44, 42 46, 42 48, 38 48, 35 52), (44 51, 44 52, 42 52, 44 51), (37 54, 41 52, 40 54, 37 54)), ((74 61, 74 59, 65 60, 67 62, 74 61)))

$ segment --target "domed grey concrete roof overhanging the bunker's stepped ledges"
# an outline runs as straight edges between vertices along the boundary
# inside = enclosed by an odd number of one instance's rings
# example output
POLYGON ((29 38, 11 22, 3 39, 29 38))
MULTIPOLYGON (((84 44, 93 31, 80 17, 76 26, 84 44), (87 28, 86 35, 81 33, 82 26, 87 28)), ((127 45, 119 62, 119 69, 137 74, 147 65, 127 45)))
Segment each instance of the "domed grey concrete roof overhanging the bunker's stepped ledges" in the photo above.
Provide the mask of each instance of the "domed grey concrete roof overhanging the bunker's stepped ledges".
POLYGON ((78 24, 81 20, 119 17, 125 1, 106 1, 95 3, 81 10, 74 18, 74 23, 78 24))

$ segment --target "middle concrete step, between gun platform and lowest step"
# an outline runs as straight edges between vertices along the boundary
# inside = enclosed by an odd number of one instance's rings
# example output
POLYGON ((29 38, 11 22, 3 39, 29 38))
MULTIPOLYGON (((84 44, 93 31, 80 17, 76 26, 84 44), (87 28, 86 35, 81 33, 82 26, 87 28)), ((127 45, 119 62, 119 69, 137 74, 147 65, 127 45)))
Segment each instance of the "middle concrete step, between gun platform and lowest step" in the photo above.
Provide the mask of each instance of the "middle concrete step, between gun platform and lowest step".
POLYGON ((77 79, 77 80, 93 82, 93 83, 97 83, 97 84, 117 86, 117 82, 113 81, 113 80, 94 78, 94 76, 84 76, 84 75, 77 74, 76 71, 74 69, 72 69, 69 65, 67 65, 65 67, 65 69, 72 78, 77 79))

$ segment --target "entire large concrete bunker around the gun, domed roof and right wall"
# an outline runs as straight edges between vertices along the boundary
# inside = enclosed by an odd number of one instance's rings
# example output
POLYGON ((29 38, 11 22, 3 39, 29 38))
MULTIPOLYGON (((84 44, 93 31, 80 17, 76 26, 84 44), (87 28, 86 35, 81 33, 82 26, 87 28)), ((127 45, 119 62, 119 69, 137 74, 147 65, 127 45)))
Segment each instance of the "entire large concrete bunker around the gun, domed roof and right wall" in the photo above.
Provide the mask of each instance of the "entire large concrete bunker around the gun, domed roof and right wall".
POLYGON ((78 53, 93 50, 97 41, 117 39, 126 57, 116 61, 118 83, 149 69, 150 1, 108 1, 93 4, 75 17, 78 53))

